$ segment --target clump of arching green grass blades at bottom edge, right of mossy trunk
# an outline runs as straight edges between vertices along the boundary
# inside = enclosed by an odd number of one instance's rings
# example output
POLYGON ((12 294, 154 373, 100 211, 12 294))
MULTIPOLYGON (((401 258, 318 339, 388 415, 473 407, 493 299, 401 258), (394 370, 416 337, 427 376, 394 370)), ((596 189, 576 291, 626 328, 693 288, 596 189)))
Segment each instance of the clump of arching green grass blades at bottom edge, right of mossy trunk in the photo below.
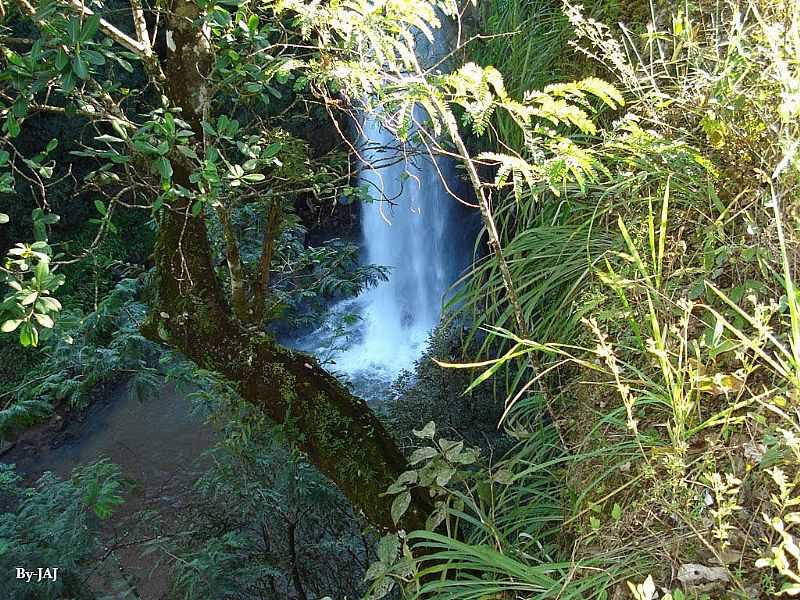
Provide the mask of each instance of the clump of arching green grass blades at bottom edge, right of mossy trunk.
POLYGON ((472 485, 454 492, 446 530, 459 535, 433 531, 409 535, 409 544, 420 557, 419 584, 411 597, 604 597, 604 590, 647 562, 623 561, 622 553, 578 563, 570 560, 571 548, 560 536, 561 478, 575 457, 559 447, 552 425, 530 425, 531 436, 521 439, 472 485))

